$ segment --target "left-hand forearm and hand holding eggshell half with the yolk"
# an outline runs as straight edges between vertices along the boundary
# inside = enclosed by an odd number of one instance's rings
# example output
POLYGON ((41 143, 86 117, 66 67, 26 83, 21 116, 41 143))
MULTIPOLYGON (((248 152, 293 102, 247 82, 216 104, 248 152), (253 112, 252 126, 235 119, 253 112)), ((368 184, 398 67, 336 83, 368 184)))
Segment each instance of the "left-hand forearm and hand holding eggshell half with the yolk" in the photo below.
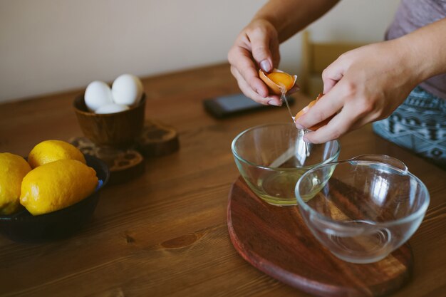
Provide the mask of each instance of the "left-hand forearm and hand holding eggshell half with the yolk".
MULTIPOLYGON (((269 94, 259 78, 259 68, 270 72, 279 65, 279 43, 294 36, 318 19, 339 0, 269 0, 242 30, 228 60, 239 88, 252 100, 264 105, 281 105, 278 95, 269 94)), ((288 93, 293 93, 292 88, 288 93)))

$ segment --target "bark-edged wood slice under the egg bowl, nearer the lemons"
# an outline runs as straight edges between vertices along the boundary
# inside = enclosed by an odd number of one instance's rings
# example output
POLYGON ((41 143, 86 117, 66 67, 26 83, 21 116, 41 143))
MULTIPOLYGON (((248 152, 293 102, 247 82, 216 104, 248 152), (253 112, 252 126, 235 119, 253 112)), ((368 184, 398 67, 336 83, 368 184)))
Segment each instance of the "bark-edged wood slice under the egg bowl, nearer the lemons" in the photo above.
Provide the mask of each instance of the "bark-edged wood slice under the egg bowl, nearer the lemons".
POLYGON ((98 157, 108 165, 109 184, 128 182, 144 173, 144 157, 138 150, 100 147, 86 137, 73 137, 69 142, 84 154, 98 157))

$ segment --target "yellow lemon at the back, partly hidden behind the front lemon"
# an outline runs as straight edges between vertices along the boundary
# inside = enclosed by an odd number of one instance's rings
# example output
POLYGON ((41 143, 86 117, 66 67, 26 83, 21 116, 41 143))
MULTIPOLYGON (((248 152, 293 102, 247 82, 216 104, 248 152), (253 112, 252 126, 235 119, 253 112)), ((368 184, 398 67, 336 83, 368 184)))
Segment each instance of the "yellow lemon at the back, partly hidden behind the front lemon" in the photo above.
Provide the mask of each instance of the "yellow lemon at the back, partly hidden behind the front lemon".
POLYGON ((74 145, 62 140, 40 142, 28 155, 28 163, 32 168, 64 159, 78 160, 86 164, 82 152, 74 145))

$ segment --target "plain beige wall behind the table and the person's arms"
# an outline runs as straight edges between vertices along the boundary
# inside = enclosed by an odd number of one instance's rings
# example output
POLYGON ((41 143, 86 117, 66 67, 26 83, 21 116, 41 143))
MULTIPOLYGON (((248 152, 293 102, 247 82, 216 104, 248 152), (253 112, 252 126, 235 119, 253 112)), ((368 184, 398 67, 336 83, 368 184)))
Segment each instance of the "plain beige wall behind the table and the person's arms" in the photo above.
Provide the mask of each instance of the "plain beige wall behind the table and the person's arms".
MULTIPOLYGON (((0 0, 0 101, 226 61, 265 2, 0 0)), ((316 40, 379 41, 397 4, 343 0, 310 28, 316 40)), ((281 68, 293 73, 299 37, 281 48, 281 68)))

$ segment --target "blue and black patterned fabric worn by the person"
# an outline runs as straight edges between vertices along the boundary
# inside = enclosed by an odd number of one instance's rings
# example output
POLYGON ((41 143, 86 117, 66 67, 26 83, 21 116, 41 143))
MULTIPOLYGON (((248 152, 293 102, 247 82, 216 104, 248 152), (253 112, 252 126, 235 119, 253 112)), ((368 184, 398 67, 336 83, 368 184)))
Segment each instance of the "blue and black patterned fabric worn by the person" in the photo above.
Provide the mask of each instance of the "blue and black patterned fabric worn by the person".
POLYGON ((419 86, 373 131, 446 170, 446 100, 419 86))

